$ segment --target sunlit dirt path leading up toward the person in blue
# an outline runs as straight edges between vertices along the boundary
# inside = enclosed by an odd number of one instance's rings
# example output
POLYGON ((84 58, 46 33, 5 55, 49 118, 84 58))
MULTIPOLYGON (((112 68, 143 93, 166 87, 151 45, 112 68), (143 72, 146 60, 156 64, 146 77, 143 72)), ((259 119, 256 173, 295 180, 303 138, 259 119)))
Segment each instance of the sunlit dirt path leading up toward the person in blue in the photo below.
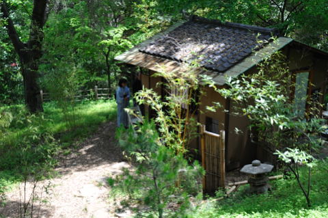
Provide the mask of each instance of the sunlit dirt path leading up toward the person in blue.
MULTIPOLYGON (((56 169, 59 176, 44 181, 44 184, 50 182, 51 188, 42 196, 46 202, 40 208, 40 217, 128 217, 115 214, 111 207, 114 202, 108 198, 106 178, 119 174, 122 167, 129 167, 120 148, 115 146, 114 135, 115 123, 108 122, 76 151, 61 159, 56 169)), ((0 215, 18 217, 20 192, 16 189, 8 193, 8 204, 0 208, 0 215)))

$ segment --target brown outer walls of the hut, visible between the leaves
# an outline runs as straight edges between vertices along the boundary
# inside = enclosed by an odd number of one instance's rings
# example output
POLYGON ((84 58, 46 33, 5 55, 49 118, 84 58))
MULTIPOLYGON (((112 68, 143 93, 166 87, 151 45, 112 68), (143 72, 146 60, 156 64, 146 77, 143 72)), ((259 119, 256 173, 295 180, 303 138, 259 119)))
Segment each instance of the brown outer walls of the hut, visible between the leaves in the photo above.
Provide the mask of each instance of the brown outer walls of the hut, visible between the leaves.
MULTIPOLYGON (((313 71, 312 89, 320 87, 320 91, 325 93, 326 90, 326 77, 328 70, 328 61, 325 58, 318 58, 312 51, 304 50, 297 46, 286 46, 282 52, 286 54, 289 59, 290 70, 310 69, 313 71)), ((256 67, 249 69, 247 74, 257 71, 256 67)), ((153 72, 150 72, 152 74, 153 72)), ((156 86, 161 78, 150 77, 149 75, 142 74, 141 81, 145 87, 153 88, 156 92, 161 94, 161 87, 156 86)), ((206 117, 213 118, 219 121, 219 131, 226 131, 226 169, 236 169, 242 167, 247 163, 251 163, 254 159, 261 161, 269 161, 271 157, 261 152, 259 148, 252 144, 249 140, 248 121, 245 117, 237 117, 232 115, 234 112, 234 104, 230 100, 222 98, 213 88, 204 87, 206 95, 200 98, 200 113, 197 114, 197 120, 201 124, 206 124, 206 117), (221 109, 216 112, 206 111, 206 106, 213 105, 213 102, 219 102, 222 105, 221 109), (230 113, 225 113, 223 109, 227 109, 230 113), (240 132, 236 131, 238 129, 240 132)), ((321 98, 320 100, 323 100, 321 98)), ((189 146, 191 150, 200 151, 200 140, 195 139, 191 141, 189 146)))

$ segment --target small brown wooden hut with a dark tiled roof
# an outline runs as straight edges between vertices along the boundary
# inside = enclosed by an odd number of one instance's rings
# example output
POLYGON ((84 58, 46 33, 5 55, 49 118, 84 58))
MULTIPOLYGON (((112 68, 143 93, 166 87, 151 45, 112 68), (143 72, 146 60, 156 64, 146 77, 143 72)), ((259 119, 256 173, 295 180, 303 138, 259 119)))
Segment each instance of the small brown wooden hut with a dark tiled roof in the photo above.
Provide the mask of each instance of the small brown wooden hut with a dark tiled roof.
MULTIPOLYGON (((143 86, 161 93, 161 87, 156 86, 161 78, 152 77, 152 74, 161 70, 159 66, 165 66, 165 70, 176 70, 180 62, 186 61, 185 51, 196 53, 201 58, 200 63, 204 73, 213 78, 217 87, 223 87, 227 77, 256 72, 257 65, 265 57, 276 51, 282 51, 288 59, 290 73, 295 74, 295 83, 308 83, 304 94, 321 93, 319 101, 323 103, 327 84, 328 53, 292 38, 281 37, 275 29, 222 23, 193 16, 189 21, 169 27, 163 33, 138 44, 115 59, 126 65, 142 68, 143 86), (277 39, 272 40, 272 37, 277 39), (182 50, 184 53, 181 52, 182 50)), ((206 170, 208 180, 219 177, 218 182, 210 185, 213 188, 213 186, 224 185, 222 182, 224 177, 221 176, 224 169, 228 171, 236 169, 251 163, 254 159, 268 161, 268 156, 262 148, 255 146, 249 140, 246 118, 232 115, 234 103, 222 98, 211 87, 204 87, 204 89, 206 96, 200 98, 202 111, 205 111, 202 107, 213 102, 220 102, 226 111, 230 111, 230 113, 208 111, 197 115, 197 120, 206 128, 203 133, 208 133, 206 139, 204 138, 207 140, 205 144, 211 143, 212 139, 208 137, 217 137, 217 140, 221 140, 220 137, 224 135, 221 141, 221 144, 224 144, 224 155, 220 153, 223 150, 217 150, 218 148, 212 150, 212 153, 204 151, 204 148, 202 150, 202 141, 204 141, 202 139, 190 145, 191 148, 204 152, 202 162, 208 169, 206 170), (243 134, 237 134, 234 131, 236 128, 243 131, 243 134), (223 158, 225 166, 214 165, 222 163, 223 158), (215 169, 209 170, 213 166, 215 169), (213 178, 209 178, 210 176, 213 178)), ((219 146, 219 143, 214 146, 219 146)))

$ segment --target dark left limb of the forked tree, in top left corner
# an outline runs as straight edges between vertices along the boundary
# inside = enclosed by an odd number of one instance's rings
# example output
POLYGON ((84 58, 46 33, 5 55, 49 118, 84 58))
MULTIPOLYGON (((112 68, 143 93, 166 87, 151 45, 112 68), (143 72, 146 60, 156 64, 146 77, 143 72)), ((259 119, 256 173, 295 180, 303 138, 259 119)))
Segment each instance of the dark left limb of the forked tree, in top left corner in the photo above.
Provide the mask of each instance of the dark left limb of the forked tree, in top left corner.
POLYGON ((7 29, 8 36, 10 40, 12 41, 12 44, 14 45, 14 49, 18 55, 22 53, 22 50, 24 49, 25 45, 20 40, 18 33, 14 27, 14 22, 12 21, 12 18, 10 18, 10 12, 8 10, 8 5, 6 1, 1 1, 0 3, 2 17, 5 20, 3 23, 5 25, 5 29, 7 29))

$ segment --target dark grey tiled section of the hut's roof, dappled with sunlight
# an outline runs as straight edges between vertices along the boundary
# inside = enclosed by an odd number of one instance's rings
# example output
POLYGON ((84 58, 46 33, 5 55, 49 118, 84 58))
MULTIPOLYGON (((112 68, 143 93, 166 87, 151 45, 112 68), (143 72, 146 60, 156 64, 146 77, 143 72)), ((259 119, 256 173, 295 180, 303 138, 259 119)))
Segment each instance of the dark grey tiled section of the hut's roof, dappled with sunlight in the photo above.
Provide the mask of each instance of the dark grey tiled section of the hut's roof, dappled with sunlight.
POLYGON ((225 72, 271 41, 275 29, 221 23, 193 17, 139 51, 177 62, 200 60, 208 70, 225 72))

